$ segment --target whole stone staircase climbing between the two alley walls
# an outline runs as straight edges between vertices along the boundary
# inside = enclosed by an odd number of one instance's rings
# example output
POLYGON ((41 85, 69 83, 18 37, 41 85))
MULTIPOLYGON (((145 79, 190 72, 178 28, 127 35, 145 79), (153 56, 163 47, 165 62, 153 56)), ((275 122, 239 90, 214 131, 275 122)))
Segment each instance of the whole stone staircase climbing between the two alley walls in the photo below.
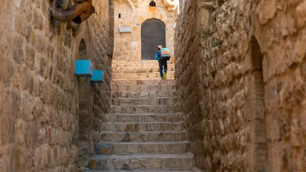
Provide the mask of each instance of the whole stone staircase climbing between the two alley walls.
POLYGON ((94 171, 184 171, 194 166, 174 96, 174 64, 113 61, 112 113, 89 160, 94 171))

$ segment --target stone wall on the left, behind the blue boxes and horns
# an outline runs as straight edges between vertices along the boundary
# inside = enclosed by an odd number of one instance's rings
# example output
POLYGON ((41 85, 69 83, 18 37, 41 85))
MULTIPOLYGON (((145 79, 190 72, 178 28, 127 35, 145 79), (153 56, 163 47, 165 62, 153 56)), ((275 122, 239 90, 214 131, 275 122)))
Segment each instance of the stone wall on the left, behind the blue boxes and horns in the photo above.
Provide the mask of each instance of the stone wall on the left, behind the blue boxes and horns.
POLYGON ((67 22, 51 19, 48 0, 0 0, 0 171, 87 166, 110 110, 108 2, 93 1, 96 12, 73 36, 67 22), (75 79, 76 59, 104 70, 105 83, 92 90, 75 79))

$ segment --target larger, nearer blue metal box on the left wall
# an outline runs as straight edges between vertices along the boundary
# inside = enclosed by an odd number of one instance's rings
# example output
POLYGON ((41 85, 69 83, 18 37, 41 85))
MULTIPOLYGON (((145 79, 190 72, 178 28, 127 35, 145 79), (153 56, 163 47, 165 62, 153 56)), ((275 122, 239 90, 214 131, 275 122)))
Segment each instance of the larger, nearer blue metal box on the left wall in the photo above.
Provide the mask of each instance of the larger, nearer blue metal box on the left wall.
POLYGON ((90 60, 75 60, 75 75, 93 76, 92 62, 90 60))

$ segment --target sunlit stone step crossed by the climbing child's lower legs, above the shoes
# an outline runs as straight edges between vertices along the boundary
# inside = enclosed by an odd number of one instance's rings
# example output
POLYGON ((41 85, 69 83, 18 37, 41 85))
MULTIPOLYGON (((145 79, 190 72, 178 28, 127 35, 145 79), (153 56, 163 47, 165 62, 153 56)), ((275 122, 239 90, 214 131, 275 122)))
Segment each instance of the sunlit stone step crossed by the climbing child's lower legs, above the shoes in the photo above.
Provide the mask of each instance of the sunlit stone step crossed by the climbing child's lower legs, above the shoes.
MULTIPOLYGON (((174 71, 174 66, 168 66, 168 72, 174 71)), ((113 73, 152 73, 159 72, 159 67, 113 67, 113 73)))

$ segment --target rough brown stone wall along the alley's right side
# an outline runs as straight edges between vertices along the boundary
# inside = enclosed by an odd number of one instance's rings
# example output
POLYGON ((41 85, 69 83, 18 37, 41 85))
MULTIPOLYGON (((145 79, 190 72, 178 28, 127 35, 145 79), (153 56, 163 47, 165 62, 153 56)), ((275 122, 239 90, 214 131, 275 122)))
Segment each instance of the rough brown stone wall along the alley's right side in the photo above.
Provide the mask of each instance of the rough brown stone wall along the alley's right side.
POLYGON ((306 1, 181 1, 176 96, 203 171, 305 171, 306 1))

